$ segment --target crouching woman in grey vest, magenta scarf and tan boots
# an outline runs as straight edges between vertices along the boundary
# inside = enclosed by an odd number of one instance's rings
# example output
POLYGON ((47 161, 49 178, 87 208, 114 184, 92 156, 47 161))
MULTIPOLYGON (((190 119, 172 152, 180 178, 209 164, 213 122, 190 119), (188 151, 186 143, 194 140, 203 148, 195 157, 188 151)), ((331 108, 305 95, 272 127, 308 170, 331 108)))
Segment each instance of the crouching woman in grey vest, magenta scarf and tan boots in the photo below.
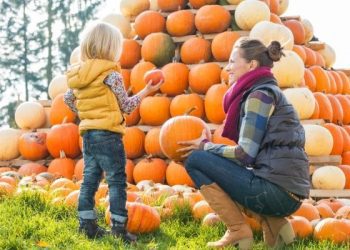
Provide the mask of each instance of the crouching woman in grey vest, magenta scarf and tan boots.
POLYGON ((228 228, 208 246, 252 248, 243 210, 259 219, 268 246, 281 247, 295 238, 285 217, 309 195, 309 164, 304 129, 271 73, 282 55, 277 41, 266 47, 259 40, 240 39, 226 68, 232 86, 224 97, 222 133, 238 144, 213 144, 204 131, 196 140, 180 142, 185 147, 179 151, 188 157, 186 170, 228 228))

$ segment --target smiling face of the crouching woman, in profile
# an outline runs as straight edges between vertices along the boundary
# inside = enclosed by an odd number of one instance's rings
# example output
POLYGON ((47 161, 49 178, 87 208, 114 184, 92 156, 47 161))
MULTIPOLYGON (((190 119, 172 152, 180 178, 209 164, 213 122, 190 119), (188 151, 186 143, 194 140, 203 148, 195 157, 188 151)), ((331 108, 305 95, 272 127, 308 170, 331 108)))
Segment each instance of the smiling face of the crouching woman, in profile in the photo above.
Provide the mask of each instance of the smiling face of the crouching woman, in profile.
POLYGON ((226 71, 229 74, 229 84, 232 85, 242 75, 251 70, 251 62, 247 62, 245 58, 241 56, 241 49, 234 48, 231 52, 230 60, 226 66, 226 71))

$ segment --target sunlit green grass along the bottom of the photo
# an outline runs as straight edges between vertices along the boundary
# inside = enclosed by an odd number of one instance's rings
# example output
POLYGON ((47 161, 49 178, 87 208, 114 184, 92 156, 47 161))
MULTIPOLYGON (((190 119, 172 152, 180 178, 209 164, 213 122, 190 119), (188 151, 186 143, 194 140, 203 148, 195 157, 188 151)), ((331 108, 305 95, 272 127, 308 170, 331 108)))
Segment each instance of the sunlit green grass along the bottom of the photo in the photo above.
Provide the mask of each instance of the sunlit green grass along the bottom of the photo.
MULTIPOLYGON (((103 211, 99 215, 100 224, 107 227, 103 211)), ((177 211, 156 232, 139 235, 138 243, 133 246, 123 245, 111 236, 89 240, 77 228, 75 209, 53 206, 39 194, 0 198, 0 249, 206 249, 207 241, 218 239, 225 232, 223 225, 201 226, 192 219, 189 210, 177 211)), ((254 249, 265 249, 260 234, 255 235, 254 249)), ((304 240, 288 249, 350 249, 350 245, 304 240)))

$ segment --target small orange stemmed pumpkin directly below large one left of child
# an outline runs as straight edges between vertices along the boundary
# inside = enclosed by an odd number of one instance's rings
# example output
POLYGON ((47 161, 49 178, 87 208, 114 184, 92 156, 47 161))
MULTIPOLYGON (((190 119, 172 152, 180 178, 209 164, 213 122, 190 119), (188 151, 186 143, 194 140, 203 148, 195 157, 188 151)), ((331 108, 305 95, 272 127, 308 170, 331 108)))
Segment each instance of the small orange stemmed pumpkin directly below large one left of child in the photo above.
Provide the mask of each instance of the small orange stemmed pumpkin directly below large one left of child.
POLYGON ((72 179, 74 175, 75 162, 70 158, 66 158, 63 151, 60 157, 50 162, 47 172, 67 179, 72 179))

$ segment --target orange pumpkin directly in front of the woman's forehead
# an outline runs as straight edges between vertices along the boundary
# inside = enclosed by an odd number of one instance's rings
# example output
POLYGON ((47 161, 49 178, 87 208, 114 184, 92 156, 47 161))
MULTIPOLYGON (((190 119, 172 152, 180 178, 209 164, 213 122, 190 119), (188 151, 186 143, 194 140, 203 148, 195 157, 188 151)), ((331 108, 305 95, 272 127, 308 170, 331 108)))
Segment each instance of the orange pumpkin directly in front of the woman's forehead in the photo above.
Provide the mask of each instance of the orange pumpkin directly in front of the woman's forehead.
POLYGON ((241 35, 235 31, 226 31, 216 35, 211 44, 214 58, 219 62, 228 61, 235 42, 241 35))

